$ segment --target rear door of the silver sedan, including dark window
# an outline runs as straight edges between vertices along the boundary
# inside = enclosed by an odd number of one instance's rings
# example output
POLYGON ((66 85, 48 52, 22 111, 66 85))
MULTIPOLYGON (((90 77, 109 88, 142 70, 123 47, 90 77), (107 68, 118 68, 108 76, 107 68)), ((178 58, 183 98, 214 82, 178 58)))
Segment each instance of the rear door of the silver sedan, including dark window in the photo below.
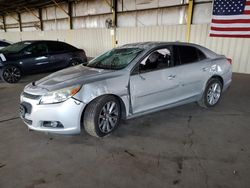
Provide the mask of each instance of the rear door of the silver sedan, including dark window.
POLYGON ((195 100, 209 78, 211 60, 193 46, 175 45, 174 63, 179 78, 182 99, 195 100))

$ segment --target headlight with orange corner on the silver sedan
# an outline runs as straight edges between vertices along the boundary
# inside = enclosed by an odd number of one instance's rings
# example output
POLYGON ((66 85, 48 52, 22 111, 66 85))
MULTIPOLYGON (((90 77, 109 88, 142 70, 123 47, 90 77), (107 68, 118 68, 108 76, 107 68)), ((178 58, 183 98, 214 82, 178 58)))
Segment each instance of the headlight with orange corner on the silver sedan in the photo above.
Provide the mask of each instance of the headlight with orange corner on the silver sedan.
POLYGON ((66 101, 68 98, 74 96, 80 89, 81 86, 77 85, 49 92, 42 96, 39 104, 53 104, 66 101))

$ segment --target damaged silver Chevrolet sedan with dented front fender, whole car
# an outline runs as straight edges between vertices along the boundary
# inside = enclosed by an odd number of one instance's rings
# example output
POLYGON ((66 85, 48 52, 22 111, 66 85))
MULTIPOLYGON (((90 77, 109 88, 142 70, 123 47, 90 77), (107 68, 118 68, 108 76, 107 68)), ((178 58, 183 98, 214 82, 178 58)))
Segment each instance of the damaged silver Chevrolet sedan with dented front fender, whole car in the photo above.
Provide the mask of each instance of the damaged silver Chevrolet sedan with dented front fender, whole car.
POLYGON ((231 67, 231 59, 196 44, 127 44, 28 84, 20 116, 32 130, 77 134, 83 124, 103 137, 122 118, 191 102, 215 106, 231 83, 231 67))

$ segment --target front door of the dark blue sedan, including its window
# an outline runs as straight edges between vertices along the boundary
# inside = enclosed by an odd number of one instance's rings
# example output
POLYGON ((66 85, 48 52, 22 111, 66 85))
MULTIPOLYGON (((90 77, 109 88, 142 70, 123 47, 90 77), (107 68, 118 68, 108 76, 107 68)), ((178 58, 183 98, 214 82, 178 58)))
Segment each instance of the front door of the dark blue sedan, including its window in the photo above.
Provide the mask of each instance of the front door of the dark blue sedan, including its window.
POLYGON ((49 70, 50 61, 48 46, 45 42, 37 42, 27 46, 22 52, 20 64, 25 72, 43 72, 49 70))

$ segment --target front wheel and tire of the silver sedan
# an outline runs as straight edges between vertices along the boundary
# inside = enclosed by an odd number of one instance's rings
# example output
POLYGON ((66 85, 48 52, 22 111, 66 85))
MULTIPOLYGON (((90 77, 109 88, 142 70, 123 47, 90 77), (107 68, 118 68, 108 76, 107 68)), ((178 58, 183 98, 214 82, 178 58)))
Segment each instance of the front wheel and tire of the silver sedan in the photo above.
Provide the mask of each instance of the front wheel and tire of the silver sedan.
POLYGON ((95 137, 104 137, 113 132, 120 123, 121 105, 112 95, 93 100, 84 113, 83 124, 86 132, 95 137), (111 112, 107 112, 110 110, 111 112))

